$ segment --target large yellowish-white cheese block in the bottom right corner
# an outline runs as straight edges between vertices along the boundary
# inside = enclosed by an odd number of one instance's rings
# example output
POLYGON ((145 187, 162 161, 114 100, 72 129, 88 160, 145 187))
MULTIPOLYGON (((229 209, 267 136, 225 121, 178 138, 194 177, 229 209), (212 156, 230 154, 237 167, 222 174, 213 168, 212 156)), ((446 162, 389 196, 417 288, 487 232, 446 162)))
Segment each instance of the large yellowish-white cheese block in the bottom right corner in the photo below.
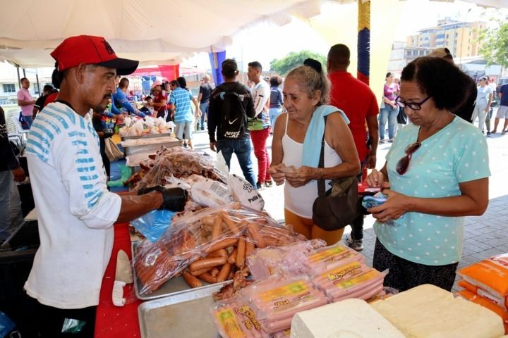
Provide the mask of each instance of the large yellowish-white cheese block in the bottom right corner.
POLYGON ((413 287, 370 306, 406 337, 497 338, 504 334, 500 316, 430 284, 413 287))

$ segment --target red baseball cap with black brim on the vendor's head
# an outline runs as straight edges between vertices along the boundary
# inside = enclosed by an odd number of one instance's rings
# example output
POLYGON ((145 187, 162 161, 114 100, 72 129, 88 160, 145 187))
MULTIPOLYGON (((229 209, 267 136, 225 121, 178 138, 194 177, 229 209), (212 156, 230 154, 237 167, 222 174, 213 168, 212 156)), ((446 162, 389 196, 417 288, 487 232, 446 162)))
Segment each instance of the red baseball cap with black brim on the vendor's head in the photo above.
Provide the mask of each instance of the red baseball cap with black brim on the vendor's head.
POLYGON ((80 63, 115 68, 116 74, 128 75, 138 68, 139 61, 119 58, 104 37, 78 35, 68 37, 52 51, 59 72, 80 63))

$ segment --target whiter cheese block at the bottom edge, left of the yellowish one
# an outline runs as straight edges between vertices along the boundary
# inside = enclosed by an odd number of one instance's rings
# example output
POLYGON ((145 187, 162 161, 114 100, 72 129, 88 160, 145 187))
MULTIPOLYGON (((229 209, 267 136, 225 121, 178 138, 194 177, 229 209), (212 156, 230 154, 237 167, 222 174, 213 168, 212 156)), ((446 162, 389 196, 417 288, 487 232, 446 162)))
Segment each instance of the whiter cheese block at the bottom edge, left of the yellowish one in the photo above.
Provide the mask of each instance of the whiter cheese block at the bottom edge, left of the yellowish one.
POLYGON ((404 338, 361 299, 345 299, 296 313, 291 338, 404 338))

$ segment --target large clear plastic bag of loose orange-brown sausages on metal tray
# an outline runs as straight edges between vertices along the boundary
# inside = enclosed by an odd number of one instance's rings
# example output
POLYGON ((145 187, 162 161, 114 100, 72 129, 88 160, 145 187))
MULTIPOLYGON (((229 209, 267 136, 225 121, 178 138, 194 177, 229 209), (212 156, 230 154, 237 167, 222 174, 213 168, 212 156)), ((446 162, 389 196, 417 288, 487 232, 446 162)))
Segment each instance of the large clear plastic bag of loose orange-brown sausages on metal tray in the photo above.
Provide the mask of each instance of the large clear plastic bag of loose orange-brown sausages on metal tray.
POLYGON ((150 294, 185 268, 208 283, 229 280, 236 269, 247 270, 245 259, 255 247, 301 240, 265 213, 228 204, 174 220, 157 242, 138 246, 134 267, 141 292, 150 294))

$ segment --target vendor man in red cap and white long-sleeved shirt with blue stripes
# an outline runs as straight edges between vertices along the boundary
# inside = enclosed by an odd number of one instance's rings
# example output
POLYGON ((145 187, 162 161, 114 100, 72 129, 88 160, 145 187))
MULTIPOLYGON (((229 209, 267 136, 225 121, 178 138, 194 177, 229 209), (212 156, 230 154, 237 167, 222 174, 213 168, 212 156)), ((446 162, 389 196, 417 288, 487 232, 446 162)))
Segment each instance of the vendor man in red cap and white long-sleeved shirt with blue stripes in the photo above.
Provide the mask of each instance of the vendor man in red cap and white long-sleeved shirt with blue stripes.
POLYGON ((118 58, 103 37, 86 35, 63 40, 51 55, 60 92, 37 115, 26 147, 40 248, 25 290, 37 299, 40 337, 60 337, 65 318, 84 320, 92 337, 113 224, 174 206, 166 191, 120 196, 107 190, 89 112, 104 111, 114 76, 133 73, 138 61, 118 58))

